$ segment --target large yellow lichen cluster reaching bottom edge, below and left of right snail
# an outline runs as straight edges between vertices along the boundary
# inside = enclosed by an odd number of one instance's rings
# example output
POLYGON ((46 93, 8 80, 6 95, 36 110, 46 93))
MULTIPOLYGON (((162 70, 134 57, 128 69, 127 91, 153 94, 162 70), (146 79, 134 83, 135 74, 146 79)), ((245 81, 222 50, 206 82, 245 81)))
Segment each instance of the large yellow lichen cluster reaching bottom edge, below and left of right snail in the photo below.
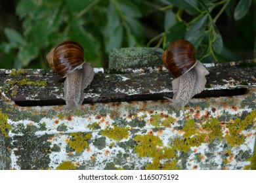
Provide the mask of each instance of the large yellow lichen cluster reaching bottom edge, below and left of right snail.
POLYGON ((163 142, 155 135, 137 135, 135 137, 137 146, 134 150, 140 157, 153 158, 152 163, 145 169, 180 169, 177 167, 177 160, 170 160, 176 157, 173 147, 163 146, 163 142), (167 159, 167 162, 161 163, 161 160, 167 159))

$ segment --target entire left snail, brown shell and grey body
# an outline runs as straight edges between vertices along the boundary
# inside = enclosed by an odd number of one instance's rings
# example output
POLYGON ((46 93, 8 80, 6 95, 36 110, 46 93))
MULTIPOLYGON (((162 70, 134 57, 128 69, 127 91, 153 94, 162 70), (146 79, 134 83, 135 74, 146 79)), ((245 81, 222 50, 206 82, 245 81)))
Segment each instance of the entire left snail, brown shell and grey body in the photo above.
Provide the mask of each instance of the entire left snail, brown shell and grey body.
POLYGON ((47 54, 47 61, 58 75, 65 78, 64 97, 67 108, 79 108, 83 103, 83 90, 91 84, 95 75, 93 67, 83 60, 83 48, 75 41, 64 41, 47 54))

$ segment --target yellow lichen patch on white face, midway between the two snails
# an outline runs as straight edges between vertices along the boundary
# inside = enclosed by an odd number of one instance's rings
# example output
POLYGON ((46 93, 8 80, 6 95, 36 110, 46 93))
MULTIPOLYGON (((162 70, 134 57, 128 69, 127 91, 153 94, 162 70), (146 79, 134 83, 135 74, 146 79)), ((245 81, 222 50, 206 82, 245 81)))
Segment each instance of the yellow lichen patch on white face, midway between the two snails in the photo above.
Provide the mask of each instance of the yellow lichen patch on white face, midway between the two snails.
POLYGON ((122 139, 127 139, 129 137, 128 127, 117 127, 102 129, 101 133, 103 136, 106 136, 110 139, 114 139, 116 141, 121 141, 122 139))

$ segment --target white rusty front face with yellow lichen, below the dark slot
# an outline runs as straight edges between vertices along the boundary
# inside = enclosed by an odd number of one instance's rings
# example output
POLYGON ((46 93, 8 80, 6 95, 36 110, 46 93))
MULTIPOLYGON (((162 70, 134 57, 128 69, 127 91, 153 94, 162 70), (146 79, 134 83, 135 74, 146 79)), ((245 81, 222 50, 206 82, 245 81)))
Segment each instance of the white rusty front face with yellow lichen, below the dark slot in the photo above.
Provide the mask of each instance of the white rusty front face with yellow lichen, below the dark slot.
POLYGON ((75 112, 7 101, 1 106, 12 127, 5 142, 6 167, 250 169, 255 92, 192 99, 188 120, 169 101, 85 104, 75 112))

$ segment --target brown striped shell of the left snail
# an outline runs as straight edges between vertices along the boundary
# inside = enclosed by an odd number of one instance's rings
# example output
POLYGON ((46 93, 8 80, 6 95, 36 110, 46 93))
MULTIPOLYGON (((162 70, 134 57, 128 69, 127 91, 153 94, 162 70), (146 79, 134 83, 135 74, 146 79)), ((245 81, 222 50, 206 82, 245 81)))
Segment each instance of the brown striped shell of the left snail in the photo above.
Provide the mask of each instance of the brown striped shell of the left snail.
POLYGON ((66 77, 85 63, 83 47, 75 41, 61 42, 47 54, 47 61, 53 71, 66 77))

